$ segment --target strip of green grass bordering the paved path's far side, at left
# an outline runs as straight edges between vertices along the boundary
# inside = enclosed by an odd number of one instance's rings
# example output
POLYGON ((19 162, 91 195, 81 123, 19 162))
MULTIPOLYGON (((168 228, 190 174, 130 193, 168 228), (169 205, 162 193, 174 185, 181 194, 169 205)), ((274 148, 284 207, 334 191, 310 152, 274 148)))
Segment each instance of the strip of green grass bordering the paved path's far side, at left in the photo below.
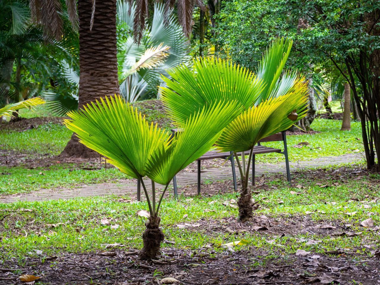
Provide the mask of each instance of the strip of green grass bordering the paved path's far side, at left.
MULTIPOLYGON (((82 169, 81 165, 55 163, 49 167, 33 169, 0 166, 0 195, 25 193, 42 188, 75 187, 83 184, 101 182, 117 183, 120 179, 128 179, 127 175, 116 168, 96 170, 82 169)), ((85 165, 83 165, 85 167, 85 165)))

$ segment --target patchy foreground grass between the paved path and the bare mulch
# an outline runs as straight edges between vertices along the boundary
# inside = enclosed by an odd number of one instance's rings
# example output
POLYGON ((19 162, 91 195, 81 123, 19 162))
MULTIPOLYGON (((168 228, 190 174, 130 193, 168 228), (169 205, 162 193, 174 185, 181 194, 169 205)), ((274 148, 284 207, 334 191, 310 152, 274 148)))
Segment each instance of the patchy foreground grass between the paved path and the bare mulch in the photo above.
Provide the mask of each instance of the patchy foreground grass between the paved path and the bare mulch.
MULTIPOLYGON (((377 177, 378 179, 378 177, 377 177)), ((280 255, 294 254, 297 249, 323 253, 328 250, 344 248, 358 255, 370 255, 363 245, 372 245, 373 249, 379 247, 379 235, 359 225, 359 222, 372 217, 375 225, 380 225, 380 201, 371 203, 370 200, 379 195, 379 189, 369 187, 374 182, 369 176, 359 180, 339 181, 338 186, 320 188, 317 181, 298 181, 306 188, 289 188, 281 180, 269 180, 268 190, 255 196, 255 199, 266 197, 262 207, 255 212, 255 216, 266 215, 280 219, 284 225, 293 220, 306 219, 309 225, 325 225, 329 222, 334 226, 351 224, 347 231, 363 232, 358 237, 335 237, 331 235, 312 234, 298 230, 280 234, 266 232, 239 233, 232 235, 226 233, 223 227, 211 228, 209 225, 219 221, 223 226, 229 226, 226 217, 236 217, 237 210, 226 207, 222 203, 231 198, 236 199, 237 194, 215 195, 212 197, 180 198, 175 201, 173 197, 165 199, 162 204, 161 226, 166 239, 175 242, 173 245, 162 244, 163 247, 199 249, 204 245, 211 245, 211 250, 224 251, 220 244, 247 239, 248 245, 242 249, 254 250, 256 247, 270 253, 280 255), (291 190, 301 192, 292 195, 291 190), (369 196, 365 196, 369 195, 369 196), (355 198, 355 199, 354 199, 355 198), (284 201, 278 203, 278 199, 284 201), (210 203, 215 201, 214 203, 210 203), (364 202, 362 202, 364 201, 364 202), (336 202, 332 203, 332 202, 336 202), (363 205, 369 205, 364 208, 363 205), (312 213, 306 214, 306 211, 312 213), (314 212, 315 211, 315 212, 314 212), (357 212, 352 217, 347 212, 357 212), (187 214, 187 218, 183 218, 187 214), (203 219, 203 220, 202 220, 203 219), (179 223, 202 222, 206 227, 177 228, 179 223), (307 245, 302 239, 321 241, 318 244, 307 245), (268 241, 274 240, 269 243, 268 241)), ((331 184, 334 182, 331 181, 331 184)), ((378 185, 378 184, 377 184, 378 185)), ((128 198, 125 196, 124 198, 128 198)), ((17 202, 0 204, 1 215, 11 213, 0 224, 3 250, 0 254, 5 257, 16 257, 23 260, 27 256, 36 255, 35 250, 42 250, 44 256, 56 256, 64 252, 95 252, 105 249, 105 244, 120 243, 127 248, 135 249, 142 246, 141 234, 144 231, 145 219, 138 217, 136 211, 147 209, 147 204, 124 203, 120 197, 105 196, 93 198, 78 198, 71 200, 55 200, 45 202, 17 202), (30 210, 21 210, 30 209, 30 210), (106 217, 109 225, 101 225, 101 218, 106 217), (51 224, 63 223, 56 227, 51 224), (111 225, 119 225, 113 230, 111 225)), ((234 221, 232 221, 234 222, 234 221)), ((301 220, 302 222, 302 220, 301 220)), ((342 231, 337 229, 336 231, 342 231)), ((239 246, 236 247, 239 249, 239 246)))

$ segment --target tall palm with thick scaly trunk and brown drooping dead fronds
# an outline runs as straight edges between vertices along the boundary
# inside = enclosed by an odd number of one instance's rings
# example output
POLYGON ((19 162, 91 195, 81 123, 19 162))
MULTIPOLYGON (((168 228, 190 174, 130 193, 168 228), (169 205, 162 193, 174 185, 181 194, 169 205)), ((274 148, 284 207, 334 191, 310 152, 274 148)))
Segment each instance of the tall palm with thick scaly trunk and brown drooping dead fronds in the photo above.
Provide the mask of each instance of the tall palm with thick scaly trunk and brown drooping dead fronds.
MULTIPOLYGON (((104 95, 119 92, 117 80, 116 47, 116 2, 117 0, 78 0, 79 14, 79 107, 104 95)), ((128 0, 132 4, 133 0, 128 0)), ((134 13, 134 38, 142 38, 148 15, 148 0, 136 0, 134 13)), ((151 1, 153 2, 153 1, 151 1)), ((180 24, 186 35, 192 30, 192 12, 195 5, 203 5, 201 0, 178 0, 177 12, 180 24)), ((76 0, 66 0, 66 8, 73 25, 77 23, 76 0)), ((165 0, 167 19, 175 0, 165 0)), ((43 24, 47 34, 62 38, 62 11, 60 1, 30 0, 31 16, 43 24)), ((83 147, 73 134, 62 156, 94 157, 97 154, 83 147)))

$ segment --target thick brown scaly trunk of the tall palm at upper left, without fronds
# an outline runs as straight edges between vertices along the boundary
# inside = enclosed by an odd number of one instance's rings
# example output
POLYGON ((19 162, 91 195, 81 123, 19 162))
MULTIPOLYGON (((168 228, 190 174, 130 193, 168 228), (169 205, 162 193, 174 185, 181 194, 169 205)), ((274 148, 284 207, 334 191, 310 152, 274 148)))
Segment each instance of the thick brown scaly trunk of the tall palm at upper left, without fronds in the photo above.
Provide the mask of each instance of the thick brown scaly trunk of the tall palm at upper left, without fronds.
MULTIPOLYGON (((116 49, 116 0, 97 1, 90 30, 93 0, 79 0, 79 108, 119 93, 116 49)), ((61 156, 97 157, 73 134, 61 156)))

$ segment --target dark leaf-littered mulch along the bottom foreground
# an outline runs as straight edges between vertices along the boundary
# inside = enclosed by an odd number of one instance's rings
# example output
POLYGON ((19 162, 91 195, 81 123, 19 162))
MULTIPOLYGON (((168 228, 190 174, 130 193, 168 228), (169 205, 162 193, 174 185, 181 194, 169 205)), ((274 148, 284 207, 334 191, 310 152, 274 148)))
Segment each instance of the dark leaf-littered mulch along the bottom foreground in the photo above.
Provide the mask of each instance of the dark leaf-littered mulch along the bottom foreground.
MULTIPOLYGON (((352 280, 356 284, 375 285, 380 280, 378 258, 359 260, 344 253, 301 257, 256 247, 239 251, 163 248, 156 260, 140 261, 137 253, 128 255, 128 252, 117 249, 112 257, 101 256, 100 252, 65 253, 48 256, 44 262, 41 257, 27 258, 19 266, 5 261, 2 267, 33 274, 41 277, 40 284, 50 285, 161 284, 160 280, 166 277, 185 285, 351 284, 352 280)), ((4 285, 21 284, 19 275, 0 269, 4 285)))

